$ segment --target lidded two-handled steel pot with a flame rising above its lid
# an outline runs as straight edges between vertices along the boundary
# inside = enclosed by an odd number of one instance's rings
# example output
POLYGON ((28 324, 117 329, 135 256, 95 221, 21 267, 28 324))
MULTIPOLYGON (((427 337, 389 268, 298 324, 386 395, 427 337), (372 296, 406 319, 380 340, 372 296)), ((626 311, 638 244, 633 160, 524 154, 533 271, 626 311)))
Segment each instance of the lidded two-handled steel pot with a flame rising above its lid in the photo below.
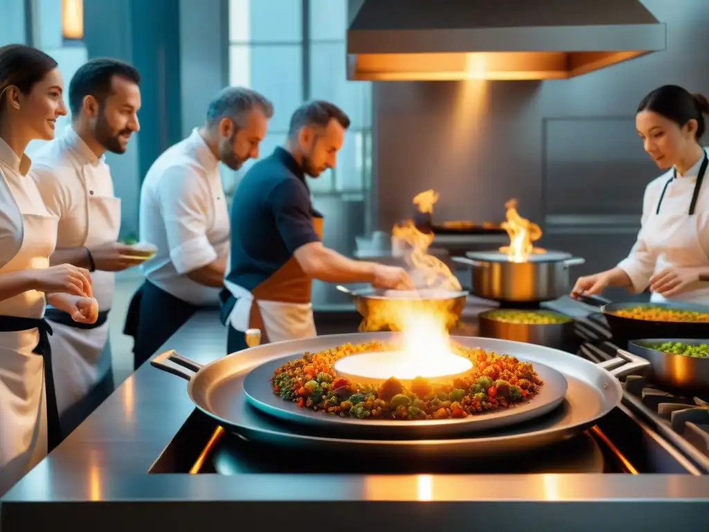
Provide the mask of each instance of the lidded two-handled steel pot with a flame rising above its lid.
POLYGON ((569 293, 569 267, 586 259, 561 251, 530 255, 513 262, 499 251, 469 251, 455 262, 472 267, 472 293, 483 299, 509 302, 541 302, 569 293))

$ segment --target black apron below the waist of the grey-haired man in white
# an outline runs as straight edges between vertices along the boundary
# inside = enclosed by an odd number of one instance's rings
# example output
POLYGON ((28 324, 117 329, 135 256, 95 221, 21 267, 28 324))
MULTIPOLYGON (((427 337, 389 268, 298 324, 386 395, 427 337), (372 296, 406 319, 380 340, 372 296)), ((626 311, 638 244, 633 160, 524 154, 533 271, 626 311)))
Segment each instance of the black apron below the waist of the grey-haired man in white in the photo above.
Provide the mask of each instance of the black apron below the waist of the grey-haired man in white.
POLYGON ((145 281, 130 300, 123 334, 132 336, 133 369, 143 365, 162 344, 182 327, 199 306, 183 301, 150 281, 145 281))

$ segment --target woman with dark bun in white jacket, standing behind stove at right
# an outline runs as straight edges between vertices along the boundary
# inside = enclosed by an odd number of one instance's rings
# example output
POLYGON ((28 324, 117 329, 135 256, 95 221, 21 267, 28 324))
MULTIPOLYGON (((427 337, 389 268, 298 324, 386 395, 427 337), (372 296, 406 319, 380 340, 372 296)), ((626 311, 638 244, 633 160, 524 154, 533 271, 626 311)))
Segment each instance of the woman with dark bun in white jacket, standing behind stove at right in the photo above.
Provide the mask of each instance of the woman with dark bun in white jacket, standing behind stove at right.
POLYGON ((635 126, 645 151, 669 169, 645 189, 642 228, 630 255, 615 268, 581 277, 571 295, 605 287, 636 293, 649 287, 651 301, 709 304, 709 155, 699 139, 709 101, 665 85, 645 96, 635 126))

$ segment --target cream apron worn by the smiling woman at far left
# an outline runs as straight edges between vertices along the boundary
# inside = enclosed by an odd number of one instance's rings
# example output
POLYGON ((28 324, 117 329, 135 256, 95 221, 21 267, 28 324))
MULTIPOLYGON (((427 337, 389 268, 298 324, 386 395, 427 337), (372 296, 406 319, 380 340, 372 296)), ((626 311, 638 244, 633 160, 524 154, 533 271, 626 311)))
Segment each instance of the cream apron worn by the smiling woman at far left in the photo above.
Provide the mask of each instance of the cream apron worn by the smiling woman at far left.
MULTIPOLYGON (((57 221, 55 216, 22 214, 21 248, 0 273, 48 267, 57 221)), ((0 315, 41 318, 44 303, 38 309, 38 294, 24 292, 0 301, 0 315)), ((47 454, 44 362, 33 353, 39 340, 37 328, 0 332, 0 494, 47 454)))

